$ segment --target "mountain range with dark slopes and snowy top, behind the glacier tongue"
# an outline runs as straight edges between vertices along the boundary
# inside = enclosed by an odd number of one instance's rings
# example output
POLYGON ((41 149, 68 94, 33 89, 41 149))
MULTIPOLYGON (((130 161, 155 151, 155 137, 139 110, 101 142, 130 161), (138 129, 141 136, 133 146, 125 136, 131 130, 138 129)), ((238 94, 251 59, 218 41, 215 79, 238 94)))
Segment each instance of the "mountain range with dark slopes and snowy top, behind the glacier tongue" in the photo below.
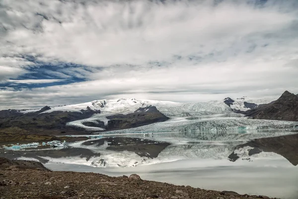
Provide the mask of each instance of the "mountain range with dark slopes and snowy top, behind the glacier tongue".
POLYGON ((247 97, 197 103, 118 99, 94 100, 56 107, 44 106, 35 110, 8 109, 0 110, 0 133, 90 134, 135 128, 168 119, 172 121, 173 118, 181 118, 180 123, 194 124, 193 122, 198 121, 200 123, 196 124, 196 129, 206 129, 202 128, 202 125, 213 125, 212 129, 216 126, 215 129, 228 130, 229 128, 221 126, 222 124, 216 124, 218 121, 212 118, 235 118, 237 122, 233 125, 241 127, 248 125, 245 124, 248 120, 239 124, 236 119, 243 115, 252 119, 298 121, 297 95, 286 91, 279 99, 270 101, 251 100, 247 97), (220 127, 217 127, 218 125, 220 127))

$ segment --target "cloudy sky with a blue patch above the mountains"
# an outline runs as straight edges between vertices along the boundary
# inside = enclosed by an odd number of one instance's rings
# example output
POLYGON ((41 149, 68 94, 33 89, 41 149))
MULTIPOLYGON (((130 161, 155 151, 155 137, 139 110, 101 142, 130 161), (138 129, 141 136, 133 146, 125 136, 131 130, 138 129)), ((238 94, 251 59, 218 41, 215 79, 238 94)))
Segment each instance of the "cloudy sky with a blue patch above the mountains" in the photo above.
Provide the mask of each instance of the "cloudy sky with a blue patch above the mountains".
POLYGON ((297 86, 297 0, 0 0, 0 109, 297 86))

